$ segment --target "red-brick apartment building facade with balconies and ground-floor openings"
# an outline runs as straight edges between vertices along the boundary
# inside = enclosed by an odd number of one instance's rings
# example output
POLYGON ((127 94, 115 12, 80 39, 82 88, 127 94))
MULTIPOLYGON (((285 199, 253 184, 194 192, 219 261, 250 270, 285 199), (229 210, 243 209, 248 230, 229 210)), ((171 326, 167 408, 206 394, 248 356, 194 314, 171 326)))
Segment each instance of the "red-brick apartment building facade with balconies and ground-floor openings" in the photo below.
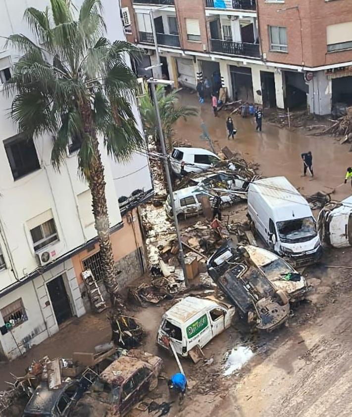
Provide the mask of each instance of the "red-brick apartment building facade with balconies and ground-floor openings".
MULTIPOLYGON (((329 114, 352 105, 352 0, 121 0, 127 38, 186 87, 209 78, 233 100, 329 114)), ((149 62, 149 65, 148 65, 149 62)))

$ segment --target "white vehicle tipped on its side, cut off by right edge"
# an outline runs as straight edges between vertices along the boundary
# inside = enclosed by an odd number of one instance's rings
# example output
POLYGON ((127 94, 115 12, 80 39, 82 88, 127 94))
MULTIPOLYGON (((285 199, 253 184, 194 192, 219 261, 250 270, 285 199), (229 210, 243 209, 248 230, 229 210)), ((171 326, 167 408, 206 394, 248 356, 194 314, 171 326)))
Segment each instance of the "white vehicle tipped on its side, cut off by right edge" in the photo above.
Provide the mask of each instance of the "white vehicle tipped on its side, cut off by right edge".
POLYGON ((322 210, 324 215, 324 239, 334 247, 352 246, 352 196, 341 201, 332 210, 322 210))

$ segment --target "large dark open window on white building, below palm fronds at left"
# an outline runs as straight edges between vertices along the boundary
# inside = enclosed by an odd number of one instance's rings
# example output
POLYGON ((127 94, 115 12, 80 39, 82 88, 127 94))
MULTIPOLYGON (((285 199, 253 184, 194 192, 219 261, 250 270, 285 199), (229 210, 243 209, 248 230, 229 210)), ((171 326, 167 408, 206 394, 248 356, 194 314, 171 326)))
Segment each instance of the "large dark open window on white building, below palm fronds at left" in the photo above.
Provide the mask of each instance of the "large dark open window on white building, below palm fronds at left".
POLYGON ((13 179, 19 179, 33 171, 39 170, 40 165, 32 138, 17 135, 4 140, 8 162, 13 179))

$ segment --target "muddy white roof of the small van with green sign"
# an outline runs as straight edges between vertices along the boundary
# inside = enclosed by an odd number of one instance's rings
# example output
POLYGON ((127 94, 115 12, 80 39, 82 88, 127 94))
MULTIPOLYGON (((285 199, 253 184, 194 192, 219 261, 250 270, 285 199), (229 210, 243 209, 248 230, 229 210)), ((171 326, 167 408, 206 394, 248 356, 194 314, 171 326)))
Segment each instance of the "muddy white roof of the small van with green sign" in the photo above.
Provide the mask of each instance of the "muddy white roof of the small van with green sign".
POLYGON ((167 310, 164 314, 164 318, 186 323, 202 309, 211 307, 215 304, 215 301, 206 298, 186 297, 167 310))

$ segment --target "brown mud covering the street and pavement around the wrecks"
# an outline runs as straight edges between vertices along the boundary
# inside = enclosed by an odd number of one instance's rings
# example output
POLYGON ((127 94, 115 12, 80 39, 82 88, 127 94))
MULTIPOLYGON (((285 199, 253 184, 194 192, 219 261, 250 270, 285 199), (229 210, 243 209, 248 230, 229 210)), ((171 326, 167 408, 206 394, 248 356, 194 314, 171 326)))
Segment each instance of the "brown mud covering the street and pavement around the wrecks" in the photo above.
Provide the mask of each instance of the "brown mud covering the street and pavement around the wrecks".
MULTIPOLYGON (((199 107, 196 95, 183 95, 183 101, 199 107)), ((305 137, 268 126, 265 119, 263 132, 257 133, 253 120, 240 116, 233 117, 238 133, 234 141, 229 141, 225 131, 227 116, 220 112, 219 118, 214 118, 210 103, 205 103, 199 117, 177 124, 175 139, 207 147, 195 133, 201 133, 204 121, 218 150, 228 146, 241 152, 247 160, 260 164, 263 175, 284 175, 304 194, 329 190, 343 182, 345 169, 351 165, 348 145, 339 145, 333 138, 305 137), (301 178, 300 154, 308 150, 313 154, 314 180, 301 178)), ((347 184, 337 188, 334 198, 341 200, 350 193, 351 186, 347 184)), ((246 210, 233 207, 230 213, 230 220, 238 220, 245 217, 246 210)), ((168 416, 352 416, 352 269, 323 265, 352 267, 352 249, 325 248, 322 264, 305 269, 311 292, 308 300, 293 308, 286 327, 262 334, 239 322, 204 348, 205 357, 213 358, 212 363, 201 361, 195 365, 182 359, 189 389, 182 406, 173 403, 168 416)), ((147 332, 143 348, 164 359, 165 377, 176 372, 177 365, 168 352, 156 347, 155 339, 163 312, 175 301, 131 310, 147 332)), ((33 358, 69 357, 75 351, 91 351, 109 338, 104 312, 75 319, 26 357, 0 364, 0 388, 10 380, 9 372, 21 375, 33 358)), ((169 399, 166 379, 159 380, 158 388, 146 401, 151 399, 169 399)), ((20 414, 14 414, 17 415, 20 414)), ((137 409, 131 413, 147 415, 137 409)))

